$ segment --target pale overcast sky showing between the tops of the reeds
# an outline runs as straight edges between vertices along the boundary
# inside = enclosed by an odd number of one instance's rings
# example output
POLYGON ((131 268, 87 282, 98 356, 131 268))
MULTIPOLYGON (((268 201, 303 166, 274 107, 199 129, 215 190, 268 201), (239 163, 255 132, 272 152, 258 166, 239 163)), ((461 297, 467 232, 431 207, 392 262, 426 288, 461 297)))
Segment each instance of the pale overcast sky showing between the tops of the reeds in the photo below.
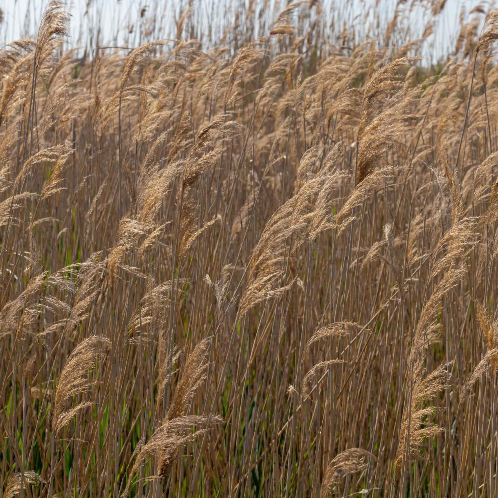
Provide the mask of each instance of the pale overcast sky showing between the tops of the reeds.
MULTIPOLYGON (((180 6, 188 5, 186 0, 67 0, 68 8, 72 14, 71 37, 68 40, 70 45, 78 46, 87 41, 88 26, 101 24, 103 38, 102 43, 112 43, 116 40, 118 33, 118 43, 127 43, 135 46, 139 40, 136 33, 129 35, 126 30, 127 25, 136 24, 139 19, 140 9, 149 5, 147 15, 155 15, 159 24, 174 26, 174 12, 178 12, 180 6), (91 3, 89 13, 85 15, 87 4, 91 3), (152 5, 158 9, 151 12, 152 5)), ((237 0, 239 1, 239 0, 237 0)), ((273 0, 275 1, 275 0, 273 0)), ((345 0, 348 2, 350 17, 352 11, 361 14, 365 9, 371 8, 377 1, 377 8, 382 13, 382 18, 389 20, 392 17, 396 0, 345 0), (350 8, 350 6, 352 6, 350 8)), ((198 12, 210 12, 214 5, 230 3, 231 0, 195 0, 194 8, 198 12)), ((285 5, 286 0, 281 0, 280 4, 285 5)), ((333 5, 342 3, 341 0, 322 0, 324 15, 329 18, 334 10, 333 5)), ((455 38, 459 30, 459 15, 462 6, 469 12, 472 7, 479 3, 478 0, 447 0, 442 15, 438 17, 439 26, 435 30, 433 46, 440 51, 437 56, 447 53, 450 47, 454 46, 455 38)), ((5 44, 22 37, 26 33, 35 33, 39 24, 41 14, 47 0, 0 0, 0 7, 3 9, 4 21, 0 25, 0 43, 5 44), (29 12, 29 23, 26 26, 26 12, 29 12)), ((219 8, 224 13, 222 8, 219 8)), ((414 15, 410 23, 422 24, 427 18, 421 19, 414 15)), ((161 33, 161 37, 170 36, 171 33, 161 33)))

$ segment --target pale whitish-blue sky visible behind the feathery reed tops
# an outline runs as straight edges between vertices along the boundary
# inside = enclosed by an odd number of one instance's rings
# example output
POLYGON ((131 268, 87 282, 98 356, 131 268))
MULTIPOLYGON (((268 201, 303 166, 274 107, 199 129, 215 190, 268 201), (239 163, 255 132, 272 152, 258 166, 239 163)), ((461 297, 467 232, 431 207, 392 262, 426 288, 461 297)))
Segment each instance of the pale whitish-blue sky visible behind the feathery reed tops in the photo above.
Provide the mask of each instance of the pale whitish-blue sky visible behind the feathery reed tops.
MULTIPOLYGON (((133 33, 129 33, 126 26, 136 26, 137 22, 143 23, 147 17, 149 20, 153 18, 156 21, 157 38, 174 37, 176 35, 175 13, 177 17, 180 8, 188 6, 188 0, 67 1, 68 9, 73 16, 71 36, 67 41, 71 46, 87 43, 90 33, 89 27, 95 29, 99 22, 102 32, 101 46, 116 43, 131 47, 137 46, 141 41, 137 34, 139 30, 135 29, 133 33), (90 4, 90 8, 87 10, 88 4, 90 4), (148 6, 148 10, 146 15, 140 18, 140 10, 144 6, 148 6)), ((273 5, 275 1, 278 0, 270 0, 270 5, 273 5)), ((237 0, 238 2, 239 0, 237 0)), ((198 16, 199 22, 213 23, 214 18, 215 22, 218 22, 222 27, 227 27, 229 19, 225 14, 226 9, 222 6, 230 3, 231 0, 195 0, 194 12, 198 16)), ((357 29, 360 31, 363 26, 359 25, 359 19, 364 18, 365 11, 372 9, 375 3, 378 3, 377 9, 381 19, 388 22, 392 18, 396 0, 322 0, 322 15, 326 16, 325 19, 329 21, 335 12, 336 16, 340 18, 342 16, 348 20, 348 26, 352 22, 356 23, 357 29)), ((439 24, 434 30, 435 34, 427 43, 431 47, 425 47, 424 56, 434 59, 447 53, 448 49, 454 46, 458 34, 462 6, 465 6, 466 11, 469 12, 478 3, 478 0, 447 0, 443 13, 438 17, 439 24), (437 53, 434 55, 434 52, 437 53)), ((47 0, 0 0, 0 7, 4 13, 4 21, 0 25, 0 44, 4 45, 25 34, 35 33, 46 4, 47 0), (28 16, 26 16, 26 12, 29 13, 28 16)), ((280 5, 285 6, 286 4, 287 0, 280 0, 280 5)), ((270 15, 273 14, 270 13, 270 15)), ((408 23, 410 26, 417 26, 417 30, 421 34, 429 17, 423 16, 421 9, 420 14, 414 14, 413 17, 414 19, 410 18, 408 23)))

